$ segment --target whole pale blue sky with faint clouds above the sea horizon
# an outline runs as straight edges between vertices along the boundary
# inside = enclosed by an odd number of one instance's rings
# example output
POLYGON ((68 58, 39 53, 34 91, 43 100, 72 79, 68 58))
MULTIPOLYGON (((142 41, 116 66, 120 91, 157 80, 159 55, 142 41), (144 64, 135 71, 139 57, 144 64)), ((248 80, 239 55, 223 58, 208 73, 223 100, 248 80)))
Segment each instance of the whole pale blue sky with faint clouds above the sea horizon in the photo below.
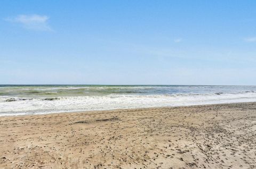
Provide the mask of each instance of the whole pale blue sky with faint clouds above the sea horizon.
POLYGON ((256 1, 0 1, 1 84, 256 85, 256 1))

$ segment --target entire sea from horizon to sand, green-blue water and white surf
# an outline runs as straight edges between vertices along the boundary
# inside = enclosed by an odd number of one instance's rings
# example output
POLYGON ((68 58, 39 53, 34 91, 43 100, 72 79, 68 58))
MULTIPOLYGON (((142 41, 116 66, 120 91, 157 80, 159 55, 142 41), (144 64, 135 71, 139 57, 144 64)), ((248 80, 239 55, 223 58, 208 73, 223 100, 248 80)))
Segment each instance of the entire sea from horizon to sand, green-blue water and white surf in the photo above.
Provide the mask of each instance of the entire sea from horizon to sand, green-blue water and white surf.
POLYGON ((256 102, 256 86, 0 85, 0 116, 256 102))

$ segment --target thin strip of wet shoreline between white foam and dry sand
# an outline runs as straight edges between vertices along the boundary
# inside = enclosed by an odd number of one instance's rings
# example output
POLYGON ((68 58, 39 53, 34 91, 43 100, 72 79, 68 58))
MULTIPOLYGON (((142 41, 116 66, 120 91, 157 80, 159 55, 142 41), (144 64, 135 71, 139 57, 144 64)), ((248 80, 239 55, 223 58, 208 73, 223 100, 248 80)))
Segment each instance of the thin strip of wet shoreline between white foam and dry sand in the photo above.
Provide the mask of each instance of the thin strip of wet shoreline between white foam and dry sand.
POLYGON ((229 104, 246 104, 256 102, 235 102, 235 103, 213 103, 213 104, 195 104, 195 105, 182 105, 182 106, 159 106, 159 107, 140 107, 140 108, 113 108, 113 109, 95 109, 95 110, 84 110, 84 111, 67 111, 67 112, 50 112, 40 114, 18 114, 18 115, 0 115, 1 117, 19 117, 19 116, 34 116, 34 115, 49 115, 49 114, 66 114, 66 113, 93 113, 93 112, 105 112, 105 111, 129 111, 138 109, 158 109, 158 108, 179 108, 179 107, 195 107, 195 106, 211 106, 211 105, 229 105, 229 104))

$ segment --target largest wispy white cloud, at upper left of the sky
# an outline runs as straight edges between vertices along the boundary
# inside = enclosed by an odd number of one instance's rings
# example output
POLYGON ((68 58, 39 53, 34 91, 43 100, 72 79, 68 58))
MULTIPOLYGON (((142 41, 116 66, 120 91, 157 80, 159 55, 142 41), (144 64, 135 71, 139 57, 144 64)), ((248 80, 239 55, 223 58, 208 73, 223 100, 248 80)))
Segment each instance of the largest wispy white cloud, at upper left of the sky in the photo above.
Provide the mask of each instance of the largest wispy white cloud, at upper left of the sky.
POLYGON ((52 31, 51 27, 47 23, 48 20, 49 16, 37 14, 18 15, 6 19, 6 21, 20 24, 25 29, 38 31, 52 31))

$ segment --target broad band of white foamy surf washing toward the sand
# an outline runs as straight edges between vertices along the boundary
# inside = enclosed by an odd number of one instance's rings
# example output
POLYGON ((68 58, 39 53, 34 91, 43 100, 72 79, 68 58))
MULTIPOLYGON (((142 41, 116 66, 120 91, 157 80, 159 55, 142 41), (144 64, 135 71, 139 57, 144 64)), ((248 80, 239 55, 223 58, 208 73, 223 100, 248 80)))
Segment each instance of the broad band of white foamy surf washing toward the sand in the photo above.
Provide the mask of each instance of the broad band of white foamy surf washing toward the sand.
MULTIPOLYGON (((0 97, 0 116, 45 114, 54 112, 91 111, 116 108, 203 105, 218 103, 256 102, 255 92, 238 94, 172 94, 172 95, 116 95, 58 97, 56 100, 29 98, 6 102, 0 97)), ((15 98, 19 99, 19 98, 15 98)))

